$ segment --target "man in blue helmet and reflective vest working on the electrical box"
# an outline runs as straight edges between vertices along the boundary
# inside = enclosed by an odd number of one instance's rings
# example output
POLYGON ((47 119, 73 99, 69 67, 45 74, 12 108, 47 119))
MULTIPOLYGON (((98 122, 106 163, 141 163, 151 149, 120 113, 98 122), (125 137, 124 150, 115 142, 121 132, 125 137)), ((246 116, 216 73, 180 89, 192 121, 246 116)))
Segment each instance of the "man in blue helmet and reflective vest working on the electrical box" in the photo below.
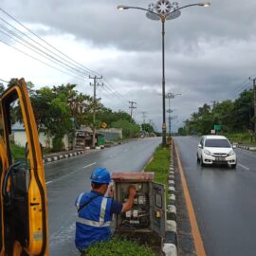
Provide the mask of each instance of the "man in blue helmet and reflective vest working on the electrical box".
POLYGON ((77 200, 76 247, 85 251, 91 244, 107 241, 111 237, 110 224, 113 213, 131 210, 136 188, 129 186, 129 197, 125 203, 113 199, 114 189, 109 186, 110 174, 105 168, 97 168, 91 174, 91 192, 82 192, 77 200), (109 188, 108 188, 109 187, 109 188), (108 195, 105 193, 108 191, 108 195))

